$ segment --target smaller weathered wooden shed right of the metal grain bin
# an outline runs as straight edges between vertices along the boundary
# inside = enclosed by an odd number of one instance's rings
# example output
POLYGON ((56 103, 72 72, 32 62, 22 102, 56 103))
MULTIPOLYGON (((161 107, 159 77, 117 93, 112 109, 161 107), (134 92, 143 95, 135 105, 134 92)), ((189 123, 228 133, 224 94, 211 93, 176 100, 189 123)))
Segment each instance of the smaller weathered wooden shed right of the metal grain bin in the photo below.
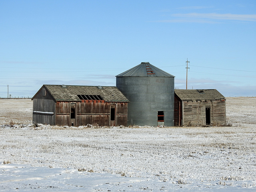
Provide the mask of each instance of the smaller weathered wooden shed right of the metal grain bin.
POLYGON ((226 99, 216 89, 174 90, 175 126, 226 124, 226 99))

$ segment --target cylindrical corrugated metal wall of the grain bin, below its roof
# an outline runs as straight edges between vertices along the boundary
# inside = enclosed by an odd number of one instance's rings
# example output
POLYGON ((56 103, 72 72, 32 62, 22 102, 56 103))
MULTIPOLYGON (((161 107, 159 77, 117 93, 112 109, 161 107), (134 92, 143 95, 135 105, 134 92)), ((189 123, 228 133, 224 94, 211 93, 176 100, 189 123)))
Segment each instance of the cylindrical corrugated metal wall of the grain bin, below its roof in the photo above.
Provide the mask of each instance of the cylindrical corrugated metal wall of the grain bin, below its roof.
POLYGON ((157 126, 158 111, 164 125, 174 126, 174 77, 116 77, 117 88, 128 98, 128 125, 157 126))

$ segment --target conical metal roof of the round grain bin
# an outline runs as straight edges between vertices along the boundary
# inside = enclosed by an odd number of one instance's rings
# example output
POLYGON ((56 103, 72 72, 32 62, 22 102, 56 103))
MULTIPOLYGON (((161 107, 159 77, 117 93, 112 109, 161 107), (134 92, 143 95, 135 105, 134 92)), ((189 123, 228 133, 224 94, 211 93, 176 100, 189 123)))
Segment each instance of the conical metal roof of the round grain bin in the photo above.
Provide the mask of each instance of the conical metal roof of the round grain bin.
POLYGON ((174 77, 174 76, 155 67, 149 62, 142 62, 141 64, 117 75, 116 77, 174 77))

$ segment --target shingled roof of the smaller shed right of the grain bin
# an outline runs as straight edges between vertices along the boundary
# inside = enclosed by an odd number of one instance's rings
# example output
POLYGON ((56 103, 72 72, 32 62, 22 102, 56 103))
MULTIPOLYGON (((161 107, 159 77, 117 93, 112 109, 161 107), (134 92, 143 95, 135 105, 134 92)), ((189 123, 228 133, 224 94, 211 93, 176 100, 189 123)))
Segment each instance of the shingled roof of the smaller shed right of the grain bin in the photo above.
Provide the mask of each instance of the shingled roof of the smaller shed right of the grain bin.
POLYGON ((225 97, 220 94, 216 89, 194 89, 194 90, 186 90, 186 89, 176 89, 174 90, 175 94, 181 100, 218 100, 225 99, 225 97))

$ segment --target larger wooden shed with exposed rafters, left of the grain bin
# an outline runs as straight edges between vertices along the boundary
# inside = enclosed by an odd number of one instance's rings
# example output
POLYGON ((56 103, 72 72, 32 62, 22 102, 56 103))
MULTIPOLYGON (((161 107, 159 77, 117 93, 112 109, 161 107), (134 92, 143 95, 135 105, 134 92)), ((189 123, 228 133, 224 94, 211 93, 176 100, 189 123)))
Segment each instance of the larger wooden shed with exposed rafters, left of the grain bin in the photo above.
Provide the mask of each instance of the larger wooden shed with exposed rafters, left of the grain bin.
POLYGON ((127 125, 129 101, 114 86, 43 85, 32 100, 34 123, 127 125))

